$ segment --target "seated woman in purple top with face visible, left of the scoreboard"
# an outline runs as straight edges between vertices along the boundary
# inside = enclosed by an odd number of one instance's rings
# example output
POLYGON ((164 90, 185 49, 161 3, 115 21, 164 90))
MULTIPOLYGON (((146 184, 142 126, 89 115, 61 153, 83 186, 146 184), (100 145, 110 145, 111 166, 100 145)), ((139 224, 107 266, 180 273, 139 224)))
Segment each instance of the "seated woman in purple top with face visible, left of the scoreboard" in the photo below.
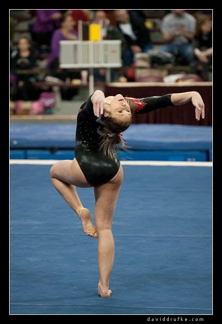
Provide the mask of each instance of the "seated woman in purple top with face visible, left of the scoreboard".
MULTIPOLYGON (((80 72, 69 72, 66 69, 59 70, 59 42, 78 39, 77 31, 73 30, 73 19, 70 14, 63 14, 60 20, 61 27, 54 31, 51 40, 51 54, 47 63, 47 68, 51 70, 51 75, 63 81, 68 79, 81 79, 80 72)), ((61 90, 62 99, 71 99, 77 93, 76 89, 61 90), (67 95, 65 95, 66 93, 67 95), (70 94, 70 95, 69 95, 70 94)))

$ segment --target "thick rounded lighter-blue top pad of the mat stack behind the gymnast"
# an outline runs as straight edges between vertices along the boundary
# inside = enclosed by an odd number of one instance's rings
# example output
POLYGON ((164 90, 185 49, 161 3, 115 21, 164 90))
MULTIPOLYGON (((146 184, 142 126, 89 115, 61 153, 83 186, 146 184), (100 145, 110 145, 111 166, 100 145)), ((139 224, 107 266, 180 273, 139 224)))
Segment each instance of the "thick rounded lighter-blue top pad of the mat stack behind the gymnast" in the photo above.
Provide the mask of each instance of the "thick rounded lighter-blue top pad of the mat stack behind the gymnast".
MULTIPOLYGON (((76 124, 11 124, 11 148, 73 148, 76 124)), ((124 133, 131 149, 211 150, 211 126, 132 124, 124 133)))

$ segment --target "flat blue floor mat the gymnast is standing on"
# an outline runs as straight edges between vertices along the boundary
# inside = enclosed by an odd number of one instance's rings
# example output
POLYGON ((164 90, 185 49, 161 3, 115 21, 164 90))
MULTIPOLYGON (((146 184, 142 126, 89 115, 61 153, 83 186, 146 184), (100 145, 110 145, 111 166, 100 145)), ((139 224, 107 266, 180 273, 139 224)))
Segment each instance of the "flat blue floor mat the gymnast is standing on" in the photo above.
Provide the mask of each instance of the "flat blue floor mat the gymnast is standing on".
MULTIPOLYGON (((123 165, 103 299, 97 239, 50 168, 10 167, 10 314, 212 314, 212 168, 123 165)), ((94 220, 93 188, 77 190, 94 220)))

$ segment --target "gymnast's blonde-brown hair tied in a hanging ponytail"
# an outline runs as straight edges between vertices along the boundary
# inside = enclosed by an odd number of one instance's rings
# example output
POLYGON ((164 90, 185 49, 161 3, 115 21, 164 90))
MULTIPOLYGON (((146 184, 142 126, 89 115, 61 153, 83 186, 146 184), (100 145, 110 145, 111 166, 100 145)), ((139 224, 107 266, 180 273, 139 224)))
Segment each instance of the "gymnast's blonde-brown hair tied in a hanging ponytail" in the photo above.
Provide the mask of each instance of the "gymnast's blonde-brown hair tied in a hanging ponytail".
POLYGON ((114 158, 114 153, 117 151, 124 150, 132 152, 128 149, 130 147, 126 145, 122 136, 119 136, 120 133, 126 131, 126 129, 130 126, 132 118, 130 120, 120 120, 116 117, 112 117, 108 111, 107 114, 107 117, 104 117, 104 115, 101 117, 105 127, 102 135, 100 136, 101 140, 99 142, 99 149, 103 150, 103 153, 110 158, 114 158), (109 136, 110 132, 115 134, 112 134, 113 136, 109 136))

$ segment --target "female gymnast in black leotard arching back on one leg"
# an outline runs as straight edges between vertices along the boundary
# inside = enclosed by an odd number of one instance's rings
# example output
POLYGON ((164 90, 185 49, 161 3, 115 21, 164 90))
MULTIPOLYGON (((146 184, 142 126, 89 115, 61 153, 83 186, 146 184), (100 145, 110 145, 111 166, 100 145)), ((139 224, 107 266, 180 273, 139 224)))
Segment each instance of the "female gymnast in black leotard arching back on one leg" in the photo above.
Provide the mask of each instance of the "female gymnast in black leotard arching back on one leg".
POLYGON ((116 150, 128 147, 121 132, 130 126, 134 114, 189 102, 195 107, 196 119, 204 118, 204 103, 196 91, 134 99, 122 94, 105 98, 102 91, 96 90, 78 112, 75 158, 59 161, 50 170, 54 187, 81 219, 84 233, 98 237, 101 297, 112 294, 109 289, 115 254, 112 220, 123 181, 123 167, 116 150), (76 187, 94 187, 95 226, 76 187))

